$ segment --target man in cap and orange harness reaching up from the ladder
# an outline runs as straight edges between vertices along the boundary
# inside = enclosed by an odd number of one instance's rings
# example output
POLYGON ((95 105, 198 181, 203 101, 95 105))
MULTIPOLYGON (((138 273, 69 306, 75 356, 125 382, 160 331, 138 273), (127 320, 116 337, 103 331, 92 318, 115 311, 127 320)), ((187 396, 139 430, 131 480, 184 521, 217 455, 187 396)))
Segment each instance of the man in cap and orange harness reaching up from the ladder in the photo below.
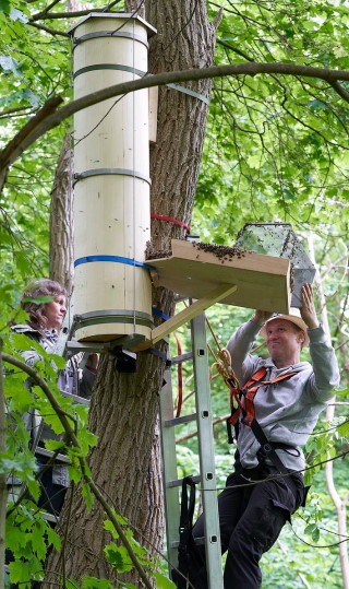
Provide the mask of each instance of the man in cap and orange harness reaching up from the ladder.
MULTIPOLYGON (((261 380, 265 384, 258 386, 253 404, 262 436, 272 443, 272 453, 276 453, 274 459, 270 453, 261 452, 263 440, 246 419, 242 396, 244 409, 238 422, 234 472, 218 497, 221 547, 222 552, 228 551, 224 584, 225 589, 256 589, 262 582, 262 554, 272 547, 285 522, 305 502, 306 491, 299 472, 304 468, 300 446, 306 443, 318 414, 338 386, 339 373, 334 350, 317 321, 310 284, 302 287, 300 314, 292 309, 291 315, 272 317, 256 310, 232 335, 228 350, 242 389, 265 368, 258 385, 261 380), (249 353, 258 331, 266 340, 267 360, 249 353), (308 343, 312 364, 300 362, 301 349, 308 343), (282 471, 286 476, 280 475, 282 471)), ((204 537, 203 517, 194 526, 193 537, 204 537)), ((190 558, 191 584, 195 589, 207 588, 204 546, 193 545, 190 558)))

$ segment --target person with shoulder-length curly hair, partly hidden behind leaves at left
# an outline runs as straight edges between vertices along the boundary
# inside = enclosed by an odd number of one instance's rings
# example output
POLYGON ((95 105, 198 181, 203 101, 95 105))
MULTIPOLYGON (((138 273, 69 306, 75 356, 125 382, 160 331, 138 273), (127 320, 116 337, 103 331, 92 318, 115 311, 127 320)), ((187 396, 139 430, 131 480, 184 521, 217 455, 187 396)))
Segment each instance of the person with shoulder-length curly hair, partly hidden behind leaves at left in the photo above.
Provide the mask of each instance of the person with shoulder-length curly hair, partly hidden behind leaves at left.
MULTIPOLYGON (((41 279, 32 282, 25 288, 21 306, 28 314, 29 319, 25 325, 16 325, 12 330, 16 333, 23 333, 31 340, 39 343, 48 353, 55 353, 59 331, 61 329, 64 315, 67 313, 67 291, 65 288, 48 279, 41 279), (48 303, 41 303, 40 298, 51 296, 48 303), (35 299, 38 299, 36 303, 35 299)), ((28 366, 41 360, 39 353, 32 350, 22 351, 22 356, 28 366)), ((77 394, 89 399, 92 388, 97 370, 98 356, 89 354, 85 368, 79 368, 79 357, 72 356, 68 360, 63 370, 58 372, 58 387, 62 392, 77 394)), ((41 494, 38 500, 38 507, 47 511, 59 515, 67 488, 69 486, 68 469, 62 462, 49 462, 49 458, 40 455, 40 448, 45 448, 46 439, 60 439, 48 424, 45 424, 41 417, 34 411, 23 415, 26 428, 31 433, 34 450, 37 446, 36 458, 39 469, 39 482, 41 484, 41 494)))

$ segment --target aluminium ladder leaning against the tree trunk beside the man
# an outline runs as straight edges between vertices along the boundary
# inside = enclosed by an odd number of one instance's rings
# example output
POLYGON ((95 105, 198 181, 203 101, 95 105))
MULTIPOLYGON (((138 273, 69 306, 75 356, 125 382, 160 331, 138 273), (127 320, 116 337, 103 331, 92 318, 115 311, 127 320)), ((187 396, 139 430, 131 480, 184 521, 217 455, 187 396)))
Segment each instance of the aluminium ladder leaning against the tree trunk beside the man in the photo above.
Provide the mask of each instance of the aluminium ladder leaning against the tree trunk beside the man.
POLYGON ((192 354, 173 358, 172 363, 192 357, 195 380, 196 413, 173 419, 172 387, 170 369, 165 376, 166 385, 160 393, 160 422, 163 445, 163 470, 166 509, 167 554, 169 569, 177 566, 179 545, 180 500, 179 490, 182 479, 177 474, 174 427, 196 420, 200 455, 198 476, 205 523, 205 551, 209 589, 222 589, 221 549, 216 492, 215 455, 209 393, 208 357, 206 345, 206 321, 202 314, 191 321, 192 354))

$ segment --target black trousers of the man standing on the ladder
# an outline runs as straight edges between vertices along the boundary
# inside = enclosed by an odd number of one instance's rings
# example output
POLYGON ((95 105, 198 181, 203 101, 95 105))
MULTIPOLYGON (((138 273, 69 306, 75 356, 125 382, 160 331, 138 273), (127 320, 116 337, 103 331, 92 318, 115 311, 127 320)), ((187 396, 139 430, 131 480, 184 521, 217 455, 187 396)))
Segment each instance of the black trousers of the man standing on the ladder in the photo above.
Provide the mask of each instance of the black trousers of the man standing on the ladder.
MULTIPOLYGON (((218 497, 221 551, 228 551, 225 589, 261 587, 262 554, 273 546, 285 522, 304 502, 301 474, 291 474, 291 483, 282 478, 264 481, 267 476, 277 476, 277 470, 266 464, 238 469, 228 476, 226 488, 218 497), (250 480, 263 482, 253 484, 250 480)), ((193 537, 204 537, 203 516, 194 526, 193 537)), ((189 579, 195 589, 208 587, 202 544, 191 549, 189 579)))

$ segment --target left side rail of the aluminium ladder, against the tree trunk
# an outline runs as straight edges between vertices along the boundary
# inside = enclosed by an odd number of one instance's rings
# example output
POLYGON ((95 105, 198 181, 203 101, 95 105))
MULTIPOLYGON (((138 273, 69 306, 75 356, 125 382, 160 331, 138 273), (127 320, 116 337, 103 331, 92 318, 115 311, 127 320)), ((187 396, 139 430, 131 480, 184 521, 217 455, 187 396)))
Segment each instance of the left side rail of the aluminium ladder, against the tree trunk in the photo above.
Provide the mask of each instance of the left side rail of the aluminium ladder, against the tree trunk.
POLYGON ((163 453, 163 482, 165 494, 166 539, 169 574, 177 566, 179 543, 180 502, 179 486, 169 483, 178 479, 174 427, 166 427, 165 423, 173 419, 171 368, 165 370, 166 384, 160 392, 160 428, 163 453))

